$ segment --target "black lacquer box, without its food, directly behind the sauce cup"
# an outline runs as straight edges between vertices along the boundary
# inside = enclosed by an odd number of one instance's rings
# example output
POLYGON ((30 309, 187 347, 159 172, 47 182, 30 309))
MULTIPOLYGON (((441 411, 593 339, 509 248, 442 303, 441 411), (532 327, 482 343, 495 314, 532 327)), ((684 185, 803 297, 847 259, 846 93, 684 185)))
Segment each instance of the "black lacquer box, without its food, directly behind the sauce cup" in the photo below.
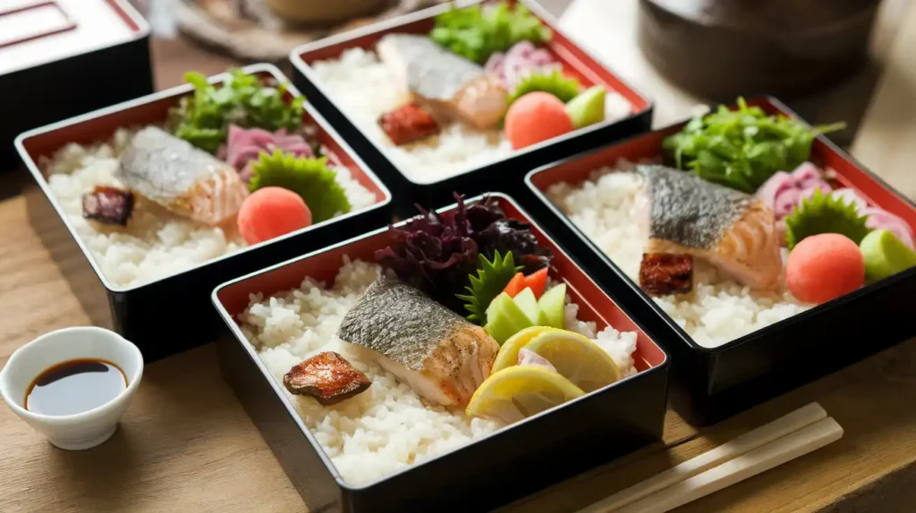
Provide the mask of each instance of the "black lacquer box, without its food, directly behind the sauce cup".
MULTIPOLYGON (((244 68, 244 71, 262 79, 287 81, 273 65, 255 64, 244 68)), ((227 76, 216 75, 209 80, 211 83, 219 83, 227 76)), ((68 273, 68 280, 73 282, 74 290, 80 293, 86 288, 86 283, 82 279, 87 273, 85 267, 91 267, 88 273, 97 278, 97 283, 92 284, 101 283, 108 296, 114 329, 140 347, 147 362, 201 346, 217 337, 220 319, 213 315, 213 308, 208 304, 209 294, 216 285, 235 276, 262 269, 274 262, 353 237, 367 229, 383 226, 391 215, 391 194, 387 187, 365 166, 321 115, 305 103, 303 117, 306 122, 318 126, 319 142, 329 148, 340 164, 348 167, 354 178, 375 195, 375 204, 220 256, 150 283, 115 286, 104 276, 87 242, 80 239, 70 219, 61 209, 58 199, 50 190, 47 176, 44 176, 38 166, 39 158, 52 155, 66 144, 93 144, 106 141, 121 127, 162 123, 167 118, 169 108, 191 91, 193 88, 190 84, 181 85, 37 128, 16 137, 16 149, 20 157, 48 199, 50 207, 54 209, 58 219, 62 220, 70 239, 76 242, 75 246, 68 246, 68 251, 70 254, 82 251, 83 258, 80 259, 79 269, 73 269, 70 265, 62 266, 65 273, 68 273)), ((299 92, 290 87, 288 96, 293 95, 299 95, 299 92)), ((40 201, 41 205, 38 208, 47 210, 48 202, 40 201)), ((60 241, 60 237, 56 239, 46 240, 46 244, 54 247, 54 244, 60 241)))

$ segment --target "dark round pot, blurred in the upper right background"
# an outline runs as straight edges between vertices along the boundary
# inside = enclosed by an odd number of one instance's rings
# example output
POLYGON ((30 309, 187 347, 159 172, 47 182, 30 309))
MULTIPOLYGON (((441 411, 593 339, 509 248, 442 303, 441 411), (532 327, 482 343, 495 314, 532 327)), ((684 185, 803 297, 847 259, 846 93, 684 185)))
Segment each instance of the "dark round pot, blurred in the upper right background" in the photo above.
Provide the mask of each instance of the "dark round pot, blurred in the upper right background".
POLYGON ((792 98, 868 57, 880 0, 639 0, 638 44, 662 76, 719 102, 792 98))

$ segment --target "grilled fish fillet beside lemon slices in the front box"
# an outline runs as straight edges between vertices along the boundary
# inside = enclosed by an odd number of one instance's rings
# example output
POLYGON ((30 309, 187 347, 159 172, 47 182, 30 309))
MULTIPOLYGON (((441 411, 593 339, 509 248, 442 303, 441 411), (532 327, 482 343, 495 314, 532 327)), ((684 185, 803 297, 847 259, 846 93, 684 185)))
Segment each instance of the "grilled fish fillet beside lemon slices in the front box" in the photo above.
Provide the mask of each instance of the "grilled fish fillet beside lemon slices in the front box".
POLYGON ((499 351, 482 327, 384 276, 347 312, 337 337, 443 406, 466 405, 499 351))

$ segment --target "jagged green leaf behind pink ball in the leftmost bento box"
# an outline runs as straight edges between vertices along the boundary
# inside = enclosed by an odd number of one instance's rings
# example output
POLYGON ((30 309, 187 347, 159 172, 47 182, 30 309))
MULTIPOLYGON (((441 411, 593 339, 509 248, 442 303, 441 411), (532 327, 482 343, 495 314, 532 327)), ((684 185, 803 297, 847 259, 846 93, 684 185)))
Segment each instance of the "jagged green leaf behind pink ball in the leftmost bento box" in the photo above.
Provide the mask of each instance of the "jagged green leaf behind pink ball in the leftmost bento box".
POLYGON ((252 166, 254 175, 248 189, 283 187, 300 195, 311 210, 312 222, 331 219, 338 212, 350 211, 350 200, 337 176, 328 166, 328 157, 297 157, 275 150, 273 155, 261 153, 252 166))

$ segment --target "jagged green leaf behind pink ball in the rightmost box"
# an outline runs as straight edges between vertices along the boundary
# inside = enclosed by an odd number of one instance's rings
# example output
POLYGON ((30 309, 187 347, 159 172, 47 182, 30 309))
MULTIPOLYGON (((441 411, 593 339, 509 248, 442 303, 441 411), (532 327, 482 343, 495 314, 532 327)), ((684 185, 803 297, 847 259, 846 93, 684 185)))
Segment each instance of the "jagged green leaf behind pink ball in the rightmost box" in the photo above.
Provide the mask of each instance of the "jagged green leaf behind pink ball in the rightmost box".
POLYGON ((871 229, 866 226, 867 216, 860 216, 856 204, 842 198, 824 195, 816 189, 811 198, 802 200, 802 206, 792 209, 786 216, 786 242, 791 250, 805 237, 819 233, 839 233, 858 244, 871 229))

